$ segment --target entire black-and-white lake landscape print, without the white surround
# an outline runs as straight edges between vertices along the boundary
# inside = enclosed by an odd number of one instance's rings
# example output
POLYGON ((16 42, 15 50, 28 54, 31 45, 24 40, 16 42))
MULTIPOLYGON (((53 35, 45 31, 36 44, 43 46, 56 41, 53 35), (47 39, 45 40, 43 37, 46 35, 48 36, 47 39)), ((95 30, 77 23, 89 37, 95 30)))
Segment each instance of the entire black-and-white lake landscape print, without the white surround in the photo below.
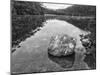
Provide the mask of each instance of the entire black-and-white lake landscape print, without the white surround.
POLYGON ((11 74, 96 69, 96 6, 11 0, 11 74))

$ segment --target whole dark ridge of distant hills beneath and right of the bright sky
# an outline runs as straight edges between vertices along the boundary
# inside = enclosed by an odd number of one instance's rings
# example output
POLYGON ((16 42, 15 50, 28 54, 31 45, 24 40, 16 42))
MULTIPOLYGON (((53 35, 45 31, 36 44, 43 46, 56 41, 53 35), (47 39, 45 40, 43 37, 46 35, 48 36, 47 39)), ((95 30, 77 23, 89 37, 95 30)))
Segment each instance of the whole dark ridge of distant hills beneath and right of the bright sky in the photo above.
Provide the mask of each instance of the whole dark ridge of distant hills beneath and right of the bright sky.
POLYGON ((68 15, 68 16, 96 16, 96 7, 88 5, 73 5, 66 9, 56 11, 43 8, 45 14, 68 15))

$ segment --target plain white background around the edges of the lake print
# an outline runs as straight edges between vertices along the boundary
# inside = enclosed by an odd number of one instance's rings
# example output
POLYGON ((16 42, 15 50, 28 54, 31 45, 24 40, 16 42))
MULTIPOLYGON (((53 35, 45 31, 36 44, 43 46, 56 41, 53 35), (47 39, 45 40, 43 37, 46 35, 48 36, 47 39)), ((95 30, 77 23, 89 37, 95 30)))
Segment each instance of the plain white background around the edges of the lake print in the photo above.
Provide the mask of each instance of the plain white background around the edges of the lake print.
MULTIPOLYGON (((33 0, 30 0, 33 1, 33 0)), ((68 71, 38 73, 37 75, 98 75, 100 72, 100 0, 34 0, 41 2, 85 4, 97 6, 97 69, 86 71, 68 71)), ((10 74, 10 0, 0 0, 0 74, 10 74)))

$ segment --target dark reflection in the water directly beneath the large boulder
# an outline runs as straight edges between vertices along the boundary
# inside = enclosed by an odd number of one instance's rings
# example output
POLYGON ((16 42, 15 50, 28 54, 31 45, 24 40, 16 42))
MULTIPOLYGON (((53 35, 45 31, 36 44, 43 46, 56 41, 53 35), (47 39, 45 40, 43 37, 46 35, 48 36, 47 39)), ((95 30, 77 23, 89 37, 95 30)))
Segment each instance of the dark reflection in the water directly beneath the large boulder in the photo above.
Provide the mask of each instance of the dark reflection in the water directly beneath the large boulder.
POLYGON ((57 63, 62 68, 71 68, 74 64, 75 53, 69 56, 62 56, 62 57, 52 56, 48 53, 48 58, 53 62, 57 63))

